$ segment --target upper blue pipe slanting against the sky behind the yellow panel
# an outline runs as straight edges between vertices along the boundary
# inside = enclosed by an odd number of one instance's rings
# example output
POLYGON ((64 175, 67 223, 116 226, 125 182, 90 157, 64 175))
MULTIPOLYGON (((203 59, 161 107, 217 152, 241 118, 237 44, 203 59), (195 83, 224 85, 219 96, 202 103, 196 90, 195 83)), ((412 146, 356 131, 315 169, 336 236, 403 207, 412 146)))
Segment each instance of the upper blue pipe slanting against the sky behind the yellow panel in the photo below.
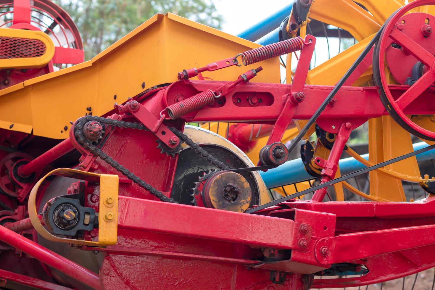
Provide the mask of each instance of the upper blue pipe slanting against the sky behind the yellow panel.
POLYGON ((281 10, 275 12, 268 18, 239 33, 237 36, 251 41, 258 40, 260 37, 266 35, 270 31, 274 30, 276 27, 280 26, 281 21, 284 20, 285 17, 290 15, 291 7, 293 7, 293 2, 294 1, 292 1, 289 5, 282 8, 281 10))

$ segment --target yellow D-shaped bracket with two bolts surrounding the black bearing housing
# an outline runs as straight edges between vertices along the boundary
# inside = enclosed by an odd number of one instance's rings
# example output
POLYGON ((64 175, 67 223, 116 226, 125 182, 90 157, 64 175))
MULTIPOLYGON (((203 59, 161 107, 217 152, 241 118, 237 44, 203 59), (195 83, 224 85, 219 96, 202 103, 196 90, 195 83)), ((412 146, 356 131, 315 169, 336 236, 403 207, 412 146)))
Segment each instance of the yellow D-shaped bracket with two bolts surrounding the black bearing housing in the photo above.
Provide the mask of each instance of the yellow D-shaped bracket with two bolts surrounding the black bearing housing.
POLYGON ((117 242, 118 231, 118 182, 119 177, 117 175, 90 173, 70 168, 55 169, 40 179, 30 192, 28 205, 30 221, 32 222, 35 230, 37 230, 41 236, 50 241, 99 247, 114 245, 117 242), (97 241, 85 241, 57 237, 43 227, 38 218, 38 212, 36 209, 36 196, 43 181, 52 175, 100 183, 100 207, 98 214, 97 241))

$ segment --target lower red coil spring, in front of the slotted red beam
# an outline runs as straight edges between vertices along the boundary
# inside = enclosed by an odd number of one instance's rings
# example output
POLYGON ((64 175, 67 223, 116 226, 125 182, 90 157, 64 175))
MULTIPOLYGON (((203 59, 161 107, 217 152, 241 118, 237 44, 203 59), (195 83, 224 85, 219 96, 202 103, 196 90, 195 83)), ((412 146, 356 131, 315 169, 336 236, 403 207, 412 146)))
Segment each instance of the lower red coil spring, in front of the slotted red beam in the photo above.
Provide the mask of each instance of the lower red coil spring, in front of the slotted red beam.
POLYGON ((178 103, 174 103, 171 106, 165 108, 169 117, 175 120, 188 113, 194 112, 214 102, 214 92, 212 90, 204 90, 204 92, 198 93, 193 97, 184 99, 178 103))

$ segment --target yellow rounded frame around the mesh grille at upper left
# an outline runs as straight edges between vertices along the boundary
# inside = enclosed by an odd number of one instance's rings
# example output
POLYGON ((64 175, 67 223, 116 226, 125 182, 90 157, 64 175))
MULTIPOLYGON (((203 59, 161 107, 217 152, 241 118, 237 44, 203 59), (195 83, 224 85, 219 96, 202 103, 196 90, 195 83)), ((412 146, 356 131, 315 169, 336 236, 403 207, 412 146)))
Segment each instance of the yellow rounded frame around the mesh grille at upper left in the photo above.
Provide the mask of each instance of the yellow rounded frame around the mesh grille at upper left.
MULTIPOLYGON (((5 37, 15 38, 21 43, 25 40, 39 40, 45 46, 45 52, 38 57, 11 57, 0 59, 0 69, 24 69, 36 68, 45 66, 54 56, 54 43, 48 34, 42 31, 13 29, 13 28, 0 28, 0 41, 13 42, 13 39, 5 40, 5 37)), ((11 44, 13 45, 13 44, 11 44)), ((20 44, 22 45, 22 44, 20 44)), ((32 52, 34 47, 29 48, 29 53, 32 52)), ((25 53, 23 47, 20 48, 21 53, 25 53)), ((7 56, 7 55, 6 55, 7 56)))

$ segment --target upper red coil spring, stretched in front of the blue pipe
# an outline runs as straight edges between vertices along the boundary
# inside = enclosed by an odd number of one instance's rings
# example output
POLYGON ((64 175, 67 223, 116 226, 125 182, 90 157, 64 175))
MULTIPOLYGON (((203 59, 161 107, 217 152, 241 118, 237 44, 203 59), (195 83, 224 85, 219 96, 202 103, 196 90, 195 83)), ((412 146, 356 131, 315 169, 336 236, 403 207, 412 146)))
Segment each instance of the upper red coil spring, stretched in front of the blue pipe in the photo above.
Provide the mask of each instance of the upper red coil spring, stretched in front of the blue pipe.
POLYGON ((283 54, 301 50, 303 45, 304 40, 302 37, 294 37, 277 43, 268 44, 264 47, 248 50, 243 53, 239 53, 239 55, 242 57, 242 63, 247 66, 252 63, 258 63, 262 60, 268 60, 272 57, 278 57, 283 54))

